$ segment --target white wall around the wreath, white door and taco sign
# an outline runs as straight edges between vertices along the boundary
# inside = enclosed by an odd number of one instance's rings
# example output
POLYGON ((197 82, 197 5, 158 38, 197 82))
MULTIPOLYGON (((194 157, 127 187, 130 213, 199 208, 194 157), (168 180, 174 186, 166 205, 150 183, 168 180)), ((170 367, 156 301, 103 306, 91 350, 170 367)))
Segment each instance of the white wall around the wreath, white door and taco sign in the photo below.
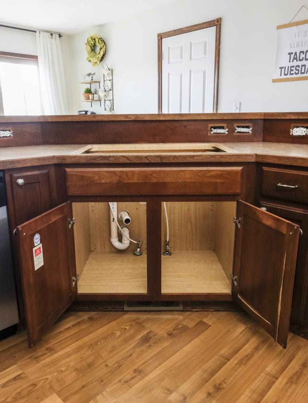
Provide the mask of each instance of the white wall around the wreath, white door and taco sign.
MULTIPOLYGON (((157 112, 157 33, 222 17, 218 112, 307 111, 308 81, 272 83, 276 53, 276 26, 288 23, 302 6, 302 0, 177 0, 107 25, 90 28, 69 38, 71 113, 90 109, 82 103, 82 73, 101 65, 86 61, 84 42, 88 32, 106 42, 107 62, 113 68, 116 113, 157 112)), ((308 4, 307 4, 308 5, 308 4)), ((307 19, 304 10, 295 21, 307 19)), ((95 105, 95 104, 93 104, 95 105)), ((97 104, 92 108, 104 113, 97 104)))

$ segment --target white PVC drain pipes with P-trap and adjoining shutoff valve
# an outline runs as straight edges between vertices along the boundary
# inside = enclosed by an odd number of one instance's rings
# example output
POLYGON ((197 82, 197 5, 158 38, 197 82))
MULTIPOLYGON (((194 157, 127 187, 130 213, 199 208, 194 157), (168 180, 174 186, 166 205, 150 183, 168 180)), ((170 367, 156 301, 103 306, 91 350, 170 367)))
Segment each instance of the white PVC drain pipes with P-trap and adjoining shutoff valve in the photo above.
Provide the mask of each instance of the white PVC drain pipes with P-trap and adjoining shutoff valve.
MULTIPOLYGON (((129 229, 126 226, 121 227, 117 221, 117 202, 109 202, 109 207, 110 207, 110 241, 112 245, 119 250, 124 250, 129 247, 130 241, 132 241, 133 243, 136 243, 138 245, 137 249, 134 251, 134 254, 137 256, 142 255, 142 251, 140 250, 142 240, 139 239, 138 241, 134 241, 134 239, 131 239, 129 236, 130 235, 129 229), (122 242, 119 241, 117 228, 119 229, 119 232, 122 234, 122 242)), ((125 222, 126 220, 126 223, 130 224, 131 219, 128 212, 122 211, 119 215, 121 215, 122 213, 127 213, 127 215, 122 215, 124 218, 123 222, 125 222)))

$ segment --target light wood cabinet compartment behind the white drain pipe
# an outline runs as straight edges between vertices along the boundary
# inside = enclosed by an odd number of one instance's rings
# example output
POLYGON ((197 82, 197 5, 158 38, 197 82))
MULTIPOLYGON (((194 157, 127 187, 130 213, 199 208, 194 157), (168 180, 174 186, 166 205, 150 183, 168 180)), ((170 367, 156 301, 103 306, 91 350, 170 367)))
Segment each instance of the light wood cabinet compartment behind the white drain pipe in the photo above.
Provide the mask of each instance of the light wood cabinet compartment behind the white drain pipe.
MULTIPOLYGON (((147 205, 145 202, 118 202, 118 213, 126 210, 132 222, 130 238, 142 239, 142 255, 130 242, 118 250, 110 242, 108 203, 73 203, 78 293, 147 293, 147 205)), ((123 222, 119 220, 120 226, 123 222)), ((121 236, 119 235, 119 239, 121 236)))

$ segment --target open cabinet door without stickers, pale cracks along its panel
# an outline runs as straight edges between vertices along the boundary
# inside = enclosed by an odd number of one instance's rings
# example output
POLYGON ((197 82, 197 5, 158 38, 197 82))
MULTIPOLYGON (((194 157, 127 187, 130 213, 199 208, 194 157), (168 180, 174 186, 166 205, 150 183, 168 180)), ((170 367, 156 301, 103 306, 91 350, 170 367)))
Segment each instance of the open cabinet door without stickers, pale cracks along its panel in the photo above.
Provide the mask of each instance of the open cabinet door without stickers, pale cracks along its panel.
POLYGON ((237 220, 233 297, 285 348, 300 227, 241 200, 237 220))

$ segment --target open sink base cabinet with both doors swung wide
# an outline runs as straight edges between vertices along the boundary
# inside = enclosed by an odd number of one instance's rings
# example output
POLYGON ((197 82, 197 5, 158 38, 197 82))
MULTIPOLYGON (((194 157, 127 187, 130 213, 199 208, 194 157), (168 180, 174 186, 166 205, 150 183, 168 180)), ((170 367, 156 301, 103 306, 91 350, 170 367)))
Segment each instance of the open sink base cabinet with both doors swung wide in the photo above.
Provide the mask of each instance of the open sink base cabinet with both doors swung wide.
MULTIPOLYGON (((86 177, 89 177, 89 170, 86 177)), ((78 183, 84 183, 83 177, 80 179, 81 171, 79 179, 74 179, 75 189, 78 183)), ((182 168, 174 169, 171 187, 176 181, 175 188, 185 188, 182 172, 182 168)), ((131 171, 121 172, 122 176, 120 179, 116 176, 115 182, 109 172, 107 176, 93 173, 98 189, 104 187, 104 181, 109 189, 116 189, 125 178, 130 178, 131 171)), ((198 179, 200 169, 192 169, 189 175, 198 179)), ((205 181, 208 177, 211 178, 211 174, 205 176, 205 181)), ((82 201, 70 196, 71 201, 17 226, 29 345, 38 342, 44 330, 74 299, 230 301, 233 298, 286 347, 299 226, 239 200, 241 189, 245 188, 242 174, 231 193, 228 193, 228 183, 216 187, 212 184, 212 188, 209 187, 212 190, 205 196, 200 195, 198 187, 195 195, 190 191, 189 195, 159 196, 155 195, 155 190, 149 195, 151 187, 147 180, 157 183, 163 178, 164 186, 168 186, 168 177, 159 172, 153 175, 151 171, 150 175, 140 172, 134 178, 141 180, 133 183, 130 195, 112 196, 108 191, 106 195, 105 190, 96 191, 95 196, 103 197, 103 201, 85 194, 82 201), (225 190, 226 200, 223 199, 225 190), (136 215, 138 225, 133 227, 131 235, 134 239, 144 238, 142 256, 133 256, 134 245, 130 245, 127 253, 109 250, 107 202, 115 200, 121 208, 129 208, 130 214, 136 215), (170 257, 161 254, 165 242, 162 202, 170 209, 170 231, 171 234, 173 231, 175 247, 170 257), (181 223, 181 230, 176 221, 181 223), (215 250, 213 247, 206 250, 202 245, 208 233, 212 233, 215 250), (195 238, 191 239, 193 236, 195 238), (202 260, 196 256, 202 256, 202 260), (198 270, 192 273, 195 280, 191 285, 186 281, 187 273, 186 280, 176 284, 180 272, 174 275, 174 270, 179 270, 179 264, 176 259, 175 264, 172 262, 177 257, 178 261, 186 262, 182 272, 186 267, 186 272, 191 273, 194 263, 201 265, 199 278, 198 270), (215 276, 213 279, 210 271, 208 276, 201 276, 202 264, 210 269, 216 265, 216 272, 224 276, 224 284, 216 281, 215 276), (96 277, 85 276, 91 270, 96 277)), ((222 180, 226 182, 226 177, 222 180)), ((67 174, 67 193, 73 189, 71 184, 71 176, 67 174)))

